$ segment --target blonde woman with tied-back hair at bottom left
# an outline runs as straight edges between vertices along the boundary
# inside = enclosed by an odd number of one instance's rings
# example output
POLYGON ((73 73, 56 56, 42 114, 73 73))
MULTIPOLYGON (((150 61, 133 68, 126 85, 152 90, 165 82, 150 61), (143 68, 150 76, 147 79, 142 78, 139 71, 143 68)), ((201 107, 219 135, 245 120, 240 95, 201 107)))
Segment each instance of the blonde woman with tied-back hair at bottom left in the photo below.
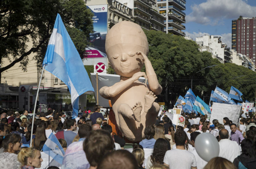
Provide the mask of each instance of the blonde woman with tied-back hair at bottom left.
POLYGON ((21 163, 21 169, 40 168, 43 161, 36 147, 22 148, 18 154, 18 160, 21 163))

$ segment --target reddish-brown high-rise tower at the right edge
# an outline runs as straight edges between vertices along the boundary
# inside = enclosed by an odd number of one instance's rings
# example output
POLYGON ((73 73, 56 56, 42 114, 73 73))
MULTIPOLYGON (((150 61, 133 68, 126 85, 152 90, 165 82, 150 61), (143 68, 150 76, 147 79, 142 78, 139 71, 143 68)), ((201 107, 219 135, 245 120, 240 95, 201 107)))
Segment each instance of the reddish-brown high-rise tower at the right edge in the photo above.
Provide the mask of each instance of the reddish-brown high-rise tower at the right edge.
POLYGON ((255 64, 256 17, 232 20, 232 49, 246 55, 255 64), (236 23, 236 26, 235 26, 236 23), (233 31, 233 28, 236 28, 233 31), (236 34, 236 38, 235 38, 236 34), (234 41, 233 41, 234 40, 234 41), (236 41, 236 42, 235 42, 236 41), (234 43, 233 43, 234 42, 234 43), (236 45, 236 48, 235 48, 236 45))

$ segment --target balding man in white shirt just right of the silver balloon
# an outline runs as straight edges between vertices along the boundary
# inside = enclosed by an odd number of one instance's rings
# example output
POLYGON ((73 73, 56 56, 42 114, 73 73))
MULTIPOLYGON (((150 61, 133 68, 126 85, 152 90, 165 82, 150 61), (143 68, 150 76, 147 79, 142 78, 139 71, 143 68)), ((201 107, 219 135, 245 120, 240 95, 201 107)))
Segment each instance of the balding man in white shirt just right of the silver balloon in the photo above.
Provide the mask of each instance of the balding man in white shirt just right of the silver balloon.
POLYGON ((234 159, 241 154, 239 145, 235 141, 231 141, 228 139, 228 130, 221 129, 219 131, 219 145, 220 145, 220 153, 219 157, 223 157, 233 162, 234 159))

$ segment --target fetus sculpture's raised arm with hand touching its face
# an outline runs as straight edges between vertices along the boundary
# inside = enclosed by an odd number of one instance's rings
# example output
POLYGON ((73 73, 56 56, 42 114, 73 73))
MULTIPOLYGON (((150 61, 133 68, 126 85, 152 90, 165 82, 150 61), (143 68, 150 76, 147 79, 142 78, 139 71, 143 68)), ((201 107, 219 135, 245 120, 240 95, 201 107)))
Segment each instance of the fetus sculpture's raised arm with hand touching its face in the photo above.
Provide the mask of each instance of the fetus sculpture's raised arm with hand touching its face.
POLYGON ((161 94, 162 86, 158 83, 156 73, 155 73, 155 71, 152 67, 152 64, 151 64, 150 60, 148 59, 147 55, 145 55, 141 51, 137 51, 137 55, 142 55, 142 57, 144 59, 146 74, 148 77, 148 85, 149 85, 150 90, 152 92, 154 92, 154 94, 156 94, 156 95, 161 94))

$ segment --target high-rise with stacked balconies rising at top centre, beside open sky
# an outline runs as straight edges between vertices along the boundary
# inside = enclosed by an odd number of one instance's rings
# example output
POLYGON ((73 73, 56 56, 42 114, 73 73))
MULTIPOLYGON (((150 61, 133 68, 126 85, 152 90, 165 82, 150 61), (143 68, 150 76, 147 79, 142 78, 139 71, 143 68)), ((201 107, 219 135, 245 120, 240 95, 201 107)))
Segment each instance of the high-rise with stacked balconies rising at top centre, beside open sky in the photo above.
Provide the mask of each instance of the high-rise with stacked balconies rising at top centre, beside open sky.
POLYGON ((182 24, 186 23, 186 14, 183 12, 186 10, 186 0, 157 0, 157 6, 159 12, 166 18, 164 31, 185 36, 182 30, 185 30, 186 27, 182 24))

